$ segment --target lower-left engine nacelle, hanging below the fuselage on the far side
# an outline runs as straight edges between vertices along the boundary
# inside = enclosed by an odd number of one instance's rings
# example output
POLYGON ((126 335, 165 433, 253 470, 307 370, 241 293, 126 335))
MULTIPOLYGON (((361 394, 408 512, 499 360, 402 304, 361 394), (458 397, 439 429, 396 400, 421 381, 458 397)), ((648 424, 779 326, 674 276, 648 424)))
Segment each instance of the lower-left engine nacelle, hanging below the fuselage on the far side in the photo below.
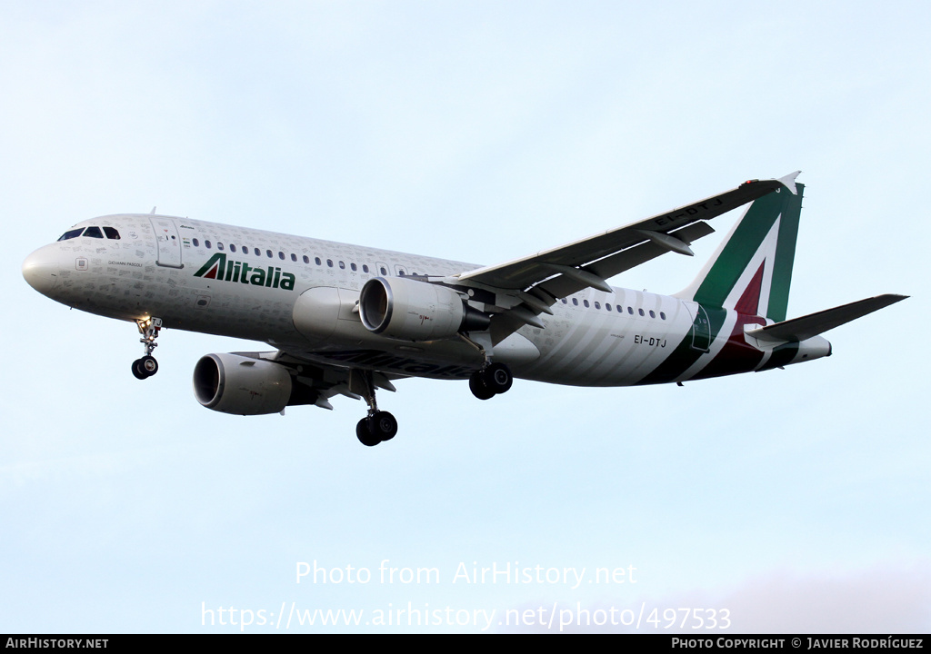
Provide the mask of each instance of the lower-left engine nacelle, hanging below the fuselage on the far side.
POLYGON ((194 394, 204 407, 237 416, 278 413, 289 404, 288 368, 238 354, 206 354, 194 367, 194 394))

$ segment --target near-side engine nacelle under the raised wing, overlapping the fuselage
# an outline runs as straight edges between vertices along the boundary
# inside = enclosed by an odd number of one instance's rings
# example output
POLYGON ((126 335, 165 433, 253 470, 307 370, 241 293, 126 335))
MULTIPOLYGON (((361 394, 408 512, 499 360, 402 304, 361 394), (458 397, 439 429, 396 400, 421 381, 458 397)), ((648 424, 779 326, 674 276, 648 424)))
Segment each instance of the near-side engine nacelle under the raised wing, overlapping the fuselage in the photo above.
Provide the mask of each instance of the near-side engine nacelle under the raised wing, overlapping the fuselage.
POLYGON ((409 277, 370 279, 359 294, 358 314, 369 331, 398 340, 449 339, 491 323, 452 288, 409 277))

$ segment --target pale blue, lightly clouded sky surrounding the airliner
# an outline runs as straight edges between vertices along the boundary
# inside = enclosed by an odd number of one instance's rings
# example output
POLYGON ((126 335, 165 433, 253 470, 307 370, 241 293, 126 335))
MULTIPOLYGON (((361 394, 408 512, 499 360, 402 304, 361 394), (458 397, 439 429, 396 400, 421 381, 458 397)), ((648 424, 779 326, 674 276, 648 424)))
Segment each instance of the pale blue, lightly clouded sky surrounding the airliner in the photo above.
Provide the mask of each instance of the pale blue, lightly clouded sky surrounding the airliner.
MULTIPOLYGON (((314 633, 479 632, 492 610, 489 631, 558 631, 505 622, 554 607, 648 633, 679 607, 729 611, 690 634, 931 630, 929 25, 922 2, 0 0, 0 631, 238 631, 230 607, 252 633, 285 631, 282 607, 364 612, 288 630, 314 633), (830 358, 484 403, 404 380, 373 448, 347 398, 197 404, 200 355, 267 346, 170 330, 139 382, 134 325, 20 274, 74 222, 154 206, 490 264, 800 168, 789 316, 911 296, 829 332, 830 358), (383 582, 385 560, 439 583, 383 582), (371 581, 297 583, 314 561, 371 581), (508 564, 586 581, 456 575, 508 564), (442 623, 376 624, 408 603, 442 623)), ((612 283, 675 292, 719 240, 612 283)))

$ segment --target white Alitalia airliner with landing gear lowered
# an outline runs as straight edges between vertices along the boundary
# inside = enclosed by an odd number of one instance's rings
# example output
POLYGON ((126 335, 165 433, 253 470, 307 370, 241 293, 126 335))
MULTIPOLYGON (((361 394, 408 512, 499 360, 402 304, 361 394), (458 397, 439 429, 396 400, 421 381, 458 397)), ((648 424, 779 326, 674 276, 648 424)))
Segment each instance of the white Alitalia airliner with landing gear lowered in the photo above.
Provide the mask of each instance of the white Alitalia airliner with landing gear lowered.
POLYGON ((236 415, 364 399, 356 435, 390 440, 376 390, 409 377, 468 380, 481 400, 514 378, 573 386, 701 380, 830 356, 820 336, 884 308, 881 295, 787 320, 804 185, 799 172, 490 266, 149 214, 78 222, 22 264, 30 286, 139 328, 139 380, 163 328, 259 340, 206 354, 198 402, 236 415), (708 224, 749 205, 695 281, 665 296, 607 280, 667 253, 693 256, 708 224))

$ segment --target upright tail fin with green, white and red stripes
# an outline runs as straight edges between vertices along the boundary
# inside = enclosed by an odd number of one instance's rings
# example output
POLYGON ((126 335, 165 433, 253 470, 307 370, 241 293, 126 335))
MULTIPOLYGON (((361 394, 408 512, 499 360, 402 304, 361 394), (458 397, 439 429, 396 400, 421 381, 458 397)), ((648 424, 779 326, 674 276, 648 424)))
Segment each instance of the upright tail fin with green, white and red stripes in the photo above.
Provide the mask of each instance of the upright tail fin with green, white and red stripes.
POLYGON ((695 281, 677 297, 776 322, 786 319, 802 213, 804 185, 795 183, 799 172, 780 179, 782 188, 747 208, 695 281))

